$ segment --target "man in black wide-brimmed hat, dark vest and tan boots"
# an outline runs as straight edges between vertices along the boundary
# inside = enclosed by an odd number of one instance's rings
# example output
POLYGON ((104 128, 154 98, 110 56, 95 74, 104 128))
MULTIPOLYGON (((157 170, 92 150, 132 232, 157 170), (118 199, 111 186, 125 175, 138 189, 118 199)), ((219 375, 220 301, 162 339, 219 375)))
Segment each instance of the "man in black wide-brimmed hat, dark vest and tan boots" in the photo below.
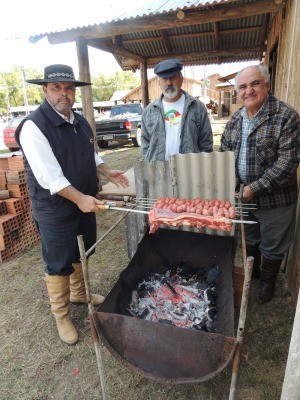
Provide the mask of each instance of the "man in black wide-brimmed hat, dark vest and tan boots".
MULTIPOLYGON (((72 111, 77 86, 71 67, 55 64, 45 68, 44 79, 28 80, 42 85, 45 100, 16 131, 25 156, 27 184, 46 264, 45 281, 61 340, 78 341, 70 318, 70 301, 87 303, 77 236, 85 248, 96 241, 98 174, 117 186, 128 186, 124 171, 111 170, 94 150, 93 132, 81 115, 72 111)), ((91 296, 94 305, 104 297, 91 296)))

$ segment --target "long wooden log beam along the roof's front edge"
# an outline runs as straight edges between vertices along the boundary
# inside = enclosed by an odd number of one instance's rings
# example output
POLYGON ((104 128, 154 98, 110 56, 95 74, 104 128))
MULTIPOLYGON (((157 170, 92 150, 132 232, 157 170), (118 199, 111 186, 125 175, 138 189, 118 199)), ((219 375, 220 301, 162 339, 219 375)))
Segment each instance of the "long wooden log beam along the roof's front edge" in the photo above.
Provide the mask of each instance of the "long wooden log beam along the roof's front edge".
MULTIPOLYGON (((183 19, 178 19, 176 13, 172 12, 157 14, 154 18, 141 17, 132 20, 118 20, 79 29, 70 29, 64 32, 50 33, 47 36, 49 42, 52 44, 72 42, 80 36, 86 39, 105 38, 132 32, 172 29, 181 26, 207 24, 210 22, 249 17, 251 15, 273 13, 280 11, 284 5, 284 1, 281 4, 276 4, 273 0, 257 0, 247 3, 247 5, 240 4, 234 7, 229 4, 221 4, 205 9, 185 10, 183 19)), ((44 36, 45 34, 37 35, 36 37, 32 36, 31 41, 37 41, 44 36)))

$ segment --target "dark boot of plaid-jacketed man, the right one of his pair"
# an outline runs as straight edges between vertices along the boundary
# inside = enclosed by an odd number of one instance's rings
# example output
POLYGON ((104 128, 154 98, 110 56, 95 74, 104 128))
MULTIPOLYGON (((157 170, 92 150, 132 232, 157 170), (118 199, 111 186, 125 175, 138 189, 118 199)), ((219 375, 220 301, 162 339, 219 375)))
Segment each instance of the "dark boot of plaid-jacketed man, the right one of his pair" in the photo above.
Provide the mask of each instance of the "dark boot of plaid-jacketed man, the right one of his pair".
POLYGON ((268 260, 263 257, 260 287, 257 299, 261 304, 273 299, 276 278, 280 270, 282 260, 268 260))

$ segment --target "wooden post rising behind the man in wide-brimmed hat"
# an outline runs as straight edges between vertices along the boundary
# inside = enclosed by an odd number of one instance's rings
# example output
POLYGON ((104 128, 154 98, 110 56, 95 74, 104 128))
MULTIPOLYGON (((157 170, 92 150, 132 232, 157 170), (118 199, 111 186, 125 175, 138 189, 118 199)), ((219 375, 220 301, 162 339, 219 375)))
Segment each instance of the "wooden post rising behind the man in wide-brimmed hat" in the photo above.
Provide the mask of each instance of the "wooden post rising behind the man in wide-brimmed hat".
MULTIPOLYGON (((84 82, 91 82, 89 55, 86 39, 84 39, 83 37, 77 38, 76 49, 79 67, 79 79, 84 82)), ((83 115, 87 119, 88 123, 91 125, 94 133, 95 150, 98 151, 96 140, 96 123, 93 107, 93 94, 92 87, 90 85, 81 87, 81 102, 83 115)))

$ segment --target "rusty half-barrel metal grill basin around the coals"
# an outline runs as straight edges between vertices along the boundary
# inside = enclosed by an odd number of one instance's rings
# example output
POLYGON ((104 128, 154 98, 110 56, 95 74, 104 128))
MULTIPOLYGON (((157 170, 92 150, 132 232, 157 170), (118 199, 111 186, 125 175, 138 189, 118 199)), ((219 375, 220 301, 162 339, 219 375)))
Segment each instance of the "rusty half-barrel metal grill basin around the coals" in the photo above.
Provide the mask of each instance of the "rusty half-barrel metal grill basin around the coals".
POLYGON ((234 336, 232 237, 159 229, 145 234, 104 303, 93 314, 98 335, 108 350, 140 375, 161 383, 193 383, 213 378, 232 360, 234 336), (166 265, 184 263, 205 274, 217 265, 216 333, 178 328, 132 317, 132 291, 166 265))

